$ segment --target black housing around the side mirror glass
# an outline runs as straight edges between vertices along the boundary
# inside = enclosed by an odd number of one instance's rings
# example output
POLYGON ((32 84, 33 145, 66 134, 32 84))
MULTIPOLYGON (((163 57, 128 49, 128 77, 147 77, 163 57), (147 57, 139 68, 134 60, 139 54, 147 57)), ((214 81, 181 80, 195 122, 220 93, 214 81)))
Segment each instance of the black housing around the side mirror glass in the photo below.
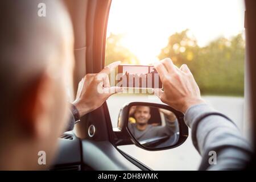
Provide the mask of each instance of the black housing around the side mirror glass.
POLYGON ((159 151, 159 150, 167 150, 170 148, 175 148, 177 146, 180 146, 183 142, 188 137, 188 126, 185 125, 184 122, 184 114, 181 113, 180 111, 177 111, 173 109, 172 107, 168 105, 163 105, 163 104, 155 104, 155 103, 150 103, 150 102, 130 102, 126 105, 124 105, 118 116, 118 130, 115 131, 115 134, 118 138, 118 142, 116 142, 117 145, 123 145, 123 144, 135 144, 136 146, 143 148, 144 150, 148 151, 159 151), (163 146, 163 147, 158 147, 158 148, 152 148, 152 147, 147 147, 144 145, 143 142, 139 142, 134 135, 131 133, 129 129, 129 112, 131 107, 133 106, 147 106, 147 107, 156 107, 158 109, 164 109, 167 111, 171 111, 171 113, 175 114, 177 123, 179 125, 179 138, 174 144, 170 144, 169 146, 163 146), (132 142, 131 142, 132 141, 132 142))

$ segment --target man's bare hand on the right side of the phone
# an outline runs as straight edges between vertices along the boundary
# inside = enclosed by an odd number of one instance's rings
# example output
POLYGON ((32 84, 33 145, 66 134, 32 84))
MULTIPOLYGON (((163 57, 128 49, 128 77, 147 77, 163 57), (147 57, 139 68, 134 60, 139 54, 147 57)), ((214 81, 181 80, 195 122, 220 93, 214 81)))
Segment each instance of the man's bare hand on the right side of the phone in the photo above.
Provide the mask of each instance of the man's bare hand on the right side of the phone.
POLYGON ((154 89, 160 100, 176 110, 185 113, 192 105, 203 104, 199 86, 187 67, 177 68, 170 58, 154 64, 163 82, 163 89, 154 89))

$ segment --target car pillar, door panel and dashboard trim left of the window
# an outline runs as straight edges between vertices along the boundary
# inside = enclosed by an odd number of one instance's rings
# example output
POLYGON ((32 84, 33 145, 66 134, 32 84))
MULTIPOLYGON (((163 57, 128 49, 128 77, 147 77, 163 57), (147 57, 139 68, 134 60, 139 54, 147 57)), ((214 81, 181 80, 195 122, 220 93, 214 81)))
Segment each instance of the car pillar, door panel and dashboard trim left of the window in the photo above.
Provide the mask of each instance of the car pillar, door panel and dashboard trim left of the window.
MULTIPOLYGON (((75 32, 74 85, 78 85, 86 73, 97 73, 104 67, 105 34, 111 1, 64 2, 71 14, 75 32)), ((76 88, 74 86, 74 91, 76 88)), ((59 154, 52 170, 149 170, 113 145, 112 123, 106 104, 81 120, 75 126, 75 133, 61 136, 59 154), (92 124, 97 132, 91 138, 88 128, 92 124), (101 160, 98 160, 99 157, 101 160)))

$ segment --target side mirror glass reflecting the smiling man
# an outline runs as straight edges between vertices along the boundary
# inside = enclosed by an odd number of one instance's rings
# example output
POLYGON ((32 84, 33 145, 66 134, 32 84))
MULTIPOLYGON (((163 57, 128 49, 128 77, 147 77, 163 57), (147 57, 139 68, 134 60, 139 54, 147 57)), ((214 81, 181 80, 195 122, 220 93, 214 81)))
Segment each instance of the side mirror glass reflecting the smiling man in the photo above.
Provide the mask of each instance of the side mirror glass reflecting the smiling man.
POLYGON ((158 107, 132 106, 128 127, 133 137, 148 148, 173 146, 179 139, 175 114, 158 107))

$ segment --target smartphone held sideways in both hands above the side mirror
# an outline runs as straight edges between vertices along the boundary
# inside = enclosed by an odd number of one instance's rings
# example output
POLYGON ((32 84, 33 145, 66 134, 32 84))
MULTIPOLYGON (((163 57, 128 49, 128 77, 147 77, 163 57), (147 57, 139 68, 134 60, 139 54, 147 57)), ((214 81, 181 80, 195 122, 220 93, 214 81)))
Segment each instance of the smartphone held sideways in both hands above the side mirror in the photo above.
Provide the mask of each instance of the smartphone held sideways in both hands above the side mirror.
POLYGON ((163 88, 152 65, 118 65, 117 82, 123 88, 163 88))

